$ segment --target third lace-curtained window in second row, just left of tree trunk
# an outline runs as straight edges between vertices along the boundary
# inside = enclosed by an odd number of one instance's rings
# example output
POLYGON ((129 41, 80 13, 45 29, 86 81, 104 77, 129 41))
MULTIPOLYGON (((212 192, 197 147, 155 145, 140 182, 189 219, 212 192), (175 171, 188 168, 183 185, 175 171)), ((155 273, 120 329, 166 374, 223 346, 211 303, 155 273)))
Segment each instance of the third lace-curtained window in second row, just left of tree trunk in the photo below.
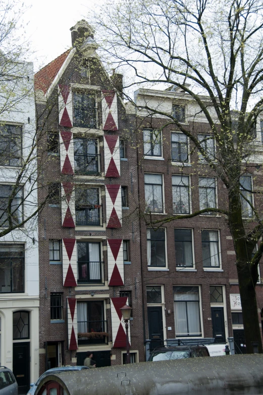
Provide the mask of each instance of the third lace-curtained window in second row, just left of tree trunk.
POLYGON ((199 177, 199 206, 200 210, 207 208, 216 209, 216 178, 199 177))

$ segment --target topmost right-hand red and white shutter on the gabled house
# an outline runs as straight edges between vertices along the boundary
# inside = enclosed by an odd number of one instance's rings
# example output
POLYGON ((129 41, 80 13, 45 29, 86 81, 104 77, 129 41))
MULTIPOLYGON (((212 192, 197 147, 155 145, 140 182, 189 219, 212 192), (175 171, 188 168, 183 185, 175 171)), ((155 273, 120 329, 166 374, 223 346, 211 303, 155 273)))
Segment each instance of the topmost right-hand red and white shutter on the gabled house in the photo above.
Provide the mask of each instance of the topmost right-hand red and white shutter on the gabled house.
POLYGON ((102 128, 118 130, 118 105, 115 91, 101 91, 102 128))

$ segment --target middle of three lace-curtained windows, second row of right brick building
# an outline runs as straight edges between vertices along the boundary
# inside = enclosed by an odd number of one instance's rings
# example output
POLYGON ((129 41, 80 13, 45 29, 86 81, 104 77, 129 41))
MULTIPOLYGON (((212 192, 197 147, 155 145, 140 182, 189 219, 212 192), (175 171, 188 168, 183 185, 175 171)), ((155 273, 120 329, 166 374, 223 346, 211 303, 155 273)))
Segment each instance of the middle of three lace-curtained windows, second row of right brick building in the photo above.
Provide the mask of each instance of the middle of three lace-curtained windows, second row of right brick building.
POLYGON ((190 213, 189 176, 172 176, 173 212, 176 214, 190 213))

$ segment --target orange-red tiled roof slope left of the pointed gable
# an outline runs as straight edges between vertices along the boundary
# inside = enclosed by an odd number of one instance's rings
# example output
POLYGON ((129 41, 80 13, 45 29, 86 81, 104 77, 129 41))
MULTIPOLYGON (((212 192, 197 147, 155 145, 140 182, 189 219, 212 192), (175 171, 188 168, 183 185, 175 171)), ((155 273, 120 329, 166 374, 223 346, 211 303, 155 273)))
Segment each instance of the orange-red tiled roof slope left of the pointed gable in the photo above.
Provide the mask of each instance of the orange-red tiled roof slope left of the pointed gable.
POLYGON ((48 88, 54 81, 55 77, 59 73, 63 63, 67 59, 71 48, 68 49, 66 52, 62 53, 56 59, 52 60, 48 63, 43 69, 39 70, 35 74, 35 90, 41 90, 46 94, 48 88))

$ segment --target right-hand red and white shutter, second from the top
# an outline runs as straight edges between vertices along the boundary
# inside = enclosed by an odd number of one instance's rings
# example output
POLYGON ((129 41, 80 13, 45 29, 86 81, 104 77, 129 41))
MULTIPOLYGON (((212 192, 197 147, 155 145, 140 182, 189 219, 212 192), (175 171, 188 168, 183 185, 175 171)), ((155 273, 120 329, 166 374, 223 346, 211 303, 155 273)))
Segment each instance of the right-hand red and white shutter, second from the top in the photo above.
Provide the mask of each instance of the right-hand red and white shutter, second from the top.
POLYGON ((104 164, 106 177, 120 177, 120 139, 119 136, 104 135, 104 164))

